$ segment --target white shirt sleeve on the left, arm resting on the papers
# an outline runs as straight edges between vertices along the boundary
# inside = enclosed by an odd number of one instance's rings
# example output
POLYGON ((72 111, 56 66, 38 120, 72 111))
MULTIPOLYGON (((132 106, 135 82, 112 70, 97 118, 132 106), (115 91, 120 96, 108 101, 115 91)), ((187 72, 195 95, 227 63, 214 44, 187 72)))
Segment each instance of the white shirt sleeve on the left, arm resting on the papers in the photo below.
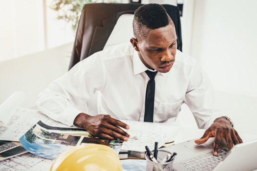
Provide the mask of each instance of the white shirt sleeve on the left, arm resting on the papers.
POLYGON ((92 55, 53 81, 37 100, 38 109, 53 120, 72 126, 76 116, 86 112, 86 102, 104 84, 103 63, 92 55))

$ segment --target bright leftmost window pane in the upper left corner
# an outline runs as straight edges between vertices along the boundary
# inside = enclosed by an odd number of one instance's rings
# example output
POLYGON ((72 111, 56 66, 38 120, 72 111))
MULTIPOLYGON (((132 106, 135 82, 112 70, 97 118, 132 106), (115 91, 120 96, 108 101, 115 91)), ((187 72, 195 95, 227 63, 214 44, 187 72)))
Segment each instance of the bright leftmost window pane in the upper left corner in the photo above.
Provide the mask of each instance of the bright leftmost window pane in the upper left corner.
POLYGON ((41 0, 0 0, 0 61, 43 50, 41 0))

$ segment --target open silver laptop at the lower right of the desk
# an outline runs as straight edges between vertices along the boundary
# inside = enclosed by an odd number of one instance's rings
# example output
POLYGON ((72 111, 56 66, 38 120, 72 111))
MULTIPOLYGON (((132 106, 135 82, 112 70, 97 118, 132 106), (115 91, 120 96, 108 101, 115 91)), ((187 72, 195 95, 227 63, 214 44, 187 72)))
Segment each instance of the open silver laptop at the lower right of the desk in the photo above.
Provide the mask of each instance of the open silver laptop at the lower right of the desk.
MULTIPOLYGON (((257 169, 257 139, 237 144, 230 151, 226 141, 220 142, 218 156, 213 156, 214 138, 197 145, 194 140, 162 150, 177 152, 174 171, 253 171, 257 169)), ((165 156, 160 156, 165 157, 165 156)))

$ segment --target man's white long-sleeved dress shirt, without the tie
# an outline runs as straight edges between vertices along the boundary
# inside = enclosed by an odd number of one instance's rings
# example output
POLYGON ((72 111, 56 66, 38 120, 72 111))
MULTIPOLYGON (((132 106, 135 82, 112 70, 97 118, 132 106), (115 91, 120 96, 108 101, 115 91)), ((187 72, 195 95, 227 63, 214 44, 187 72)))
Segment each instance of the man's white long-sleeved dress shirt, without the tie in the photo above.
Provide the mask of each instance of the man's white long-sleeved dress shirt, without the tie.
MULTIPOLYGON (((52 119, 71 126, 79 113, 87 113, 87 102, 98 91, 99 114, 144 121, 147 69, 130 43, 119 44, 76 64, 43 90, 36 104, 52 119)), ((206 74, 192 57, 177 50, 171 70, 155 77, 154 122, 175 121, 182 103, 199 128, 222 116, 213 106, 214 91, 206 74)))

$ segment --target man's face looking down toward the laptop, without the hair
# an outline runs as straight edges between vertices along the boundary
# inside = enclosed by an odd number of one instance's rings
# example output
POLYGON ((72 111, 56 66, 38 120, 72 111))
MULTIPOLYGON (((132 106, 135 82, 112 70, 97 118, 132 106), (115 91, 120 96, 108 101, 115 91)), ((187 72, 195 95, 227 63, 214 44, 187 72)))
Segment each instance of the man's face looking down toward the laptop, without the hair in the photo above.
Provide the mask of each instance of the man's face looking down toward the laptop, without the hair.
POLYGON ((173 25, 150 30, 147 38, 137 43, 135 49, 148 68, 162 73, 171 70, 177 51, 177 36, 173 25))

